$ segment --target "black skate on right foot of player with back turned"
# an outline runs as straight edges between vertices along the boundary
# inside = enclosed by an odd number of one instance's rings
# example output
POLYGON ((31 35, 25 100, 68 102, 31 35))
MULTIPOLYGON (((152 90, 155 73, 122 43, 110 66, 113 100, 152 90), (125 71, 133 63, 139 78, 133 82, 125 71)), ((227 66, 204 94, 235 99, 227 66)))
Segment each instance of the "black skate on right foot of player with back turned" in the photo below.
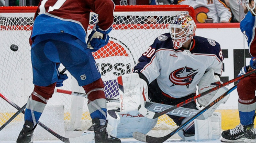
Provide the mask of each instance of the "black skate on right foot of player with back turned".
POLYGON ((94 139, 95 143, 120 143, 121 140, 110 136, 107 133, 107 121, 105 125, 101 125, 99 119, 93 119, 93 128, 94 128, 94 139))

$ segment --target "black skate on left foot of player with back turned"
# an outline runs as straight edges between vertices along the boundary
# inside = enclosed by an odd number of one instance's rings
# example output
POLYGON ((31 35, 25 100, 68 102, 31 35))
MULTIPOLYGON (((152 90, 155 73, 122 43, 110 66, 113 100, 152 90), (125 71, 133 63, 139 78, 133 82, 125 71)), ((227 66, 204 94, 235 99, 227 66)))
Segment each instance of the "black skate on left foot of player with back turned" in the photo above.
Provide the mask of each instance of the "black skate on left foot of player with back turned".
POLYGON ((35 129, 35 127, 33 128, 33 126, 33 123, 25 121, 23 129, 19 133, 17 143, 32 143, 33 132, 35 129))

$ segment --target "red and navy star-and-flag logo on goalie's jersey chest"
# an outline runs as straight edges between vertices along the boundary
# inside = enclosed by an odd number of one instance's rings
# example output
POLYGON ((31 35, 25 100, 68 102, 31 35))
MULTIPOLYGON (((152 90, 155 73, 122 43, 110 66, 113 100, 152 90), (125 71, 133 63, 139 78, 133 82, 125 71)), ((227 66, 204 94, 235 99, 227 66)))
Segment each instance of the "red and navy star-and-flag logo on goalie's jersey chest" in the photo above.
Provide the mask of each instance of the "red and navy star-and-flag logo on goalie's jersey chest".
POLYGON ((195 75, 198 72, 195 72, 196 70, 193 70, 192 68, 180 68, 175 71, 173 71, 169 79, 174 85, 186 85, 187 88, 190 86, 190 84, 193 82, 195 75))

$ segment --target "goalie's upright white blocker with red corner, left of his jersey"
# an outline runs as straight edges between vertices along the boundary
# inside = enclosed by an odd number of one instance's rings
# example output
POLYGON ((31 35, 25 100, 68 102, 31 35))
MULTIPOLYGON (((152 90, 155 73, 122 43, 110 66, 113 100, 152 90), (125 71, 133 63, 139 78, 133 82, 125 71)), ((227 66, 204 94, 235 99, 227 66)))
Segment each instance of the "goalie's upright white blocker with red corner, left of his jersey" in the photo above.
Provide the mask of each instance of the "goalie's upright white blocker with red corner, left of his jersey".
POLYGON ((138 107, 148 99, 148 85, 140 79, 138 73, 131 73, 117 78, 120 95, 120 112, 138 115, 138 107))

